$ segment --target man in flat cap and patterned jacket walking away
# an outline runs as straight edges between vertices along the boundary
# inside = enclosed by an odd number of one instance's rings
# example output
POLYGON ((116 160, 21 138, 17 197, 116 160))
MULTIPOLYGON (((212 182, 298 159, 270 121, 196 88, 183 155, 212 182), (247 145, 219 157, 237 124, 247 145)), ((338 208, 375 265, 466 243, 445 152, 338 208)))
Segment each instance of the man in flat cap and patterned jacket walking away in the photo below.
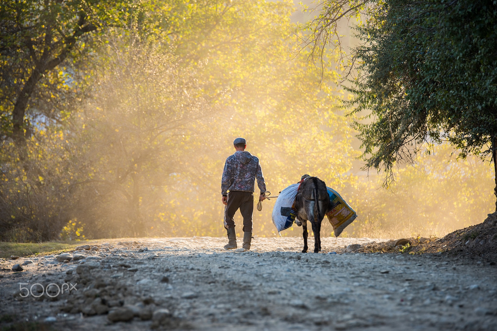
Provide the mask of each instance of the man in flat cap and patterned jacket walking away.
POLYGON ((225 249, 237 248, 237 236, 235 233, 235 220, 233 217, 238 209, 244 218, 244 244, 243 248, 250 249, 252 242, 252 212, 253 192, 255 178, 260 189, 259 201, 266 199, 266 184, 262 176, 259 159, 246 151, 247 141, 237 138, 233 142, 235 154, 226 159, 223 178, 221 179, 222 201, 224 208, 224 227, 228 232, 228 244, 225 249), (228 191, 230 191, 228 193, 228 191))

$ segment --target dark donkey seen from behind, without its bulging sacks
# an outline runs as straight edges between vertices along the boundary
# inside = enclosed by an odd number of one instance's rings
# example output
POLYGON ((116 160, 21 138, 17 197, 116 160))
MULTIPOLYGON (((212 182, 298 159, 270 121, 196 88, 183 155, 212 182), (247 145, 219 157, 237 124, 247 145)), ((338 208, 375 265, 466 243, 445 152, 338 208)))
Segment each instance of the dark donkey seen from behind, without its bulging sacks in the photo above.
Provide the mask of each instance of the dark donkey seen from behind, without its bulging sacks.
POLYGON ((307 221, 311 222, 314 232, 314 253, 318 253, 321 251, 321 222, 330 207, 330 196, 325 182, 318 177, 307 177, 300 185, 295 199, 296 223, 298 226, 302 226, 302 236, 304 237, 302 253, 307 253, 308 249, 307 221))

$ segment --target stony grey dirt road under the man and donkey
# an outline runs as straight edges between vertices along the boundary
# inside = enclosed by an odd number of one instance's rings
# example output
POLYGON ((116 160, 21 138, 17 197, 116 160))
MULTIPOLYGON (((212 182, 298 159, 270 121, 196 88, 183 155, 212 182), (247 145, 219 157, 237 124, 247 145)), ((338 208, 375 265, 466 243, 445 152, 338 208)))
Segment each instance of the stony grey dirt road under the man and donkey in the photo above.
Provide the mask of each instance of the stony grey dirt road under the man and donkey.
POLYGON ((497 268, 483 260, 330 254, 351 243, 385 240, 370 238, 325 238, 321 254, 299 253, 301 238, 256 238, 249 252, 223 250, 225 238, 128 240, 77 251, 66 263, 57 261, 63 256, 1 261, 1 325, 74 331, 497 330, 497 268), (22 265, 26 260, 33 263, 22 265), (10 271, 14 263, 24 270, 10 271), (35 283, 48 292, 41 294, 35 283), (67 283, 68 289, 57 294, 49 283, 67 283))

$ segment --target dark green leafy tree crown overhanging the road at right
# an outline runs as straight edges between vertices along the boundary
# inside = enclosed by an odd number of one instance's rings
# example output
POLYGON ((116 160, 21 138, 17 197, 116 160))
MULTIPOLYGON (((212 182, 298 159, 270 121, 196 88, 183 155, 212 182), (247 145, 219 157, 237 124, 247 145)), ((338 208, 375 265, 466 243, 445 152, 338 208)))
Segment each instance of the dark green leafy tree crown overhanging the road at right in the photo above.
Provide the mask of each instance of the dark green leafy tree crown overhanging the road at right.
MULTIPOLYGON (((423 146, 430 153, 447 140, 460 158, 490 156, 497 174, 493 1, 371 1, 366 9, 367 19, 357 27, 363 43, 353 50, 358 74, 349 75, 345 87, 355 95, 347 104, 357 106, 352 113, 368 113, 354 122, 365 168, 385 170, 388 187, 395 165, 414 162, 423 146)), ((315 33, 326 29, 331 15, 322 14, 315 33)))

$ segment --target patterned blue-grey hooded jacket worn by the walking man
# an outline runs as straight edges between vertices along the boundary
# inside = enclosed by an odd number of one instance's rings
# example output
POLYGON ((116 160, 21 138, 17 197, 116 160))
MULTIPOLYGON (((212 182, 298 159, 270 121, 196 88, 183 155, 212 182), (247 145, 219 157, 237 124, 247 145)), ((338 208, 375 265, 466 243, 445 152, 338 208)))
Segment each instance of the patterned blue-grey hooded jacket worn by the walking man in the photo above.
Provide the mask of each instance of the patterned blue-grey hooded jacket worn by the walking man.
POLYGON ((226 159, 221 179, 221 194, 228 194, 228 190, 255 192, 255 178, 260 192, 266 192, 259 159, 247 151, 237 151, 226 159))

